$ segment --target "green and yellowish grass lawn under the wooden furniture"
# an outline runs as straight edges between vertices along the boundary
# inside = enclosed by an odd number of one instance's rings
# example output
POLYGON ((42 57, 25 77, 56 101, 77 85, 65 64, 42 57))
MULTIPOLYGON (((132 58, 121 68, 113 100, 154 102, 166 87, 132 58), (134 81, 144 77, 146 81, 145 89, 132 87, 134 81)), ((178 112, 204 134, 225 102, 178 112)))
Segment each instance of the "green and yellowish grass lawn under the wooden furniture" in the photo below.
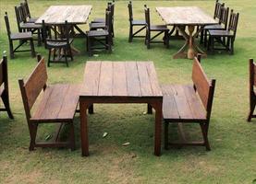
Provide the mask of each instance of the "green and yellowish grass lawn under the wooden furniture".
MULTIPOLYGON (((152 22, 163 23, 155 6, 201 6, 213 15, 214 1, 134 1, 134 16, 143 18, 143 5, 152 8, 152 22)), ((247 123, 249 109, 248 59, 256 55, 256 4, 254 0, 226 0, 226 6, 240 13, 235 55, 215 53, 202 59, 209 77, 216 79, 209 139, 211 152, 203 147, 163 149, 153 153, 154 116, 144 115, 145 105, 95 105, 89 116, 89 157, 81 157, 79 115, 76 116, 77 149, 41 149, 29 152, 30 136, 18 88, 18 78, 27 77, 36 65, 29 52, 16 54, 8 61, 10 101, 15 120, 0 114, 0 183, 252 183, 256 178, 256 126, 247 123), (104 132, 108 135, 103 138, 104 132), (128 146, 122 146, 129 142, 128 146)), ((16 30, 16 0, 0 2, 0 52, 8 52, 4 12, 16 30)), ((90 20, 104 17, 106 1, 30 0, 33 17, 39 17, 52 5, 92 5, 90 20)), ((100 52, 88 57, 85 40, 75 40, 81 51, 69 64, 52 64, 49 83, 80 83, 84 65, 89 60, 153 61, 161 84, 191 83, 190 60, 174 60, 172 55, 183 40, 171 40, 170 49, 162 44, 147 50, 143 40, 128 43, 128 1, 116 2, 115 47, 112 54, 100 52)), ((87 26, 82 29, 88 29, 87 26)), ((43 47, 36 47, 47 57, 43 47)), ((2 105, 2 104, 1 104, 2 105)), ((191 138, 199 137, 199 127, 186 127, 191 138)), ((43 125, 40 137, 55 132, 54 125, 43 125)), ((171 131, 176 132, 176 127, 171 131)), ((65 136, 65 133, 63 134, 65 136)))

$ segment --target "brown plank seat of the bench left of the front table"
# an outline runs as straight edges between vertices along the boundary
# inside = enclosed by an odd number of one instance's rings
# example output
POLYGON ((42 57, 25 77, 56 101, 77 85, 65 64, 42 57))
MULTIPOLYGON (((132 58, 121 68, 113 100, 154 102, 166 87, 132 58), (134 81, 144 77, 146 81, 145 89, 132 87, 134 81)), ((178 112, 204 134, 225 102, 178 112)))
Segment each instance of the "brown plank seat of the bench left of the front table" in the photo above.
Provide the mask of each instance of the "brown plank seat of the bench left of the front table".
POLYGON ((47 86, 30 121, 72 121, 79 103, 79 85, 47 86))

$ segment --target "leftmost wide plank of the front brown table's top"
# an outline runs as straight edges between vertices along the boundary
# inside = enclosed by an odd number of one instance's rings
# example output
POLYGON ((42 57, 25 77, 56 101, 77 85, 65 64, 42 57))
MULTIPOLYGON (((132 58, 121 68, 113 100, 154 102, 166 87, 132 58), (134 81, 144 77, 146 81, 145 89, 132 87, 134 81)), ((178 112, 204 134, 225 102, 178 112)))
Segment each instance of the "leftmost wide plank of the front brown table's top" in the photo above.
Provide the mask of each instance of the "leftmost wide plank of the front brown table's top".
POLYGON ((80 96, 97 96, 99 89, 101 62, 87 62, 80 96))

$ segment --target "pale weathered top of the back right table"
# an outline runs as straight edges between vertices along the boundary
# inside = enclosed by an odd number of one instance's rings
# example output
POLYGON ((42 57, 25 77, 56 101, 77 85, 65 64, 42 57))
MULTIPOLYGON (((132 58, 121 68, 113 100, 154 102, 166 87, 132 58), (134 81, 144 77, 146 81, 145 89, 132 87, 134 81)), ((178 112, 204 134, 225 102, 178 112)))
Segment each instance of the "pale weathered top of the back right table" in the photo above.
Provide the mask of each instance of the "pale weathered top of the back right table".
POLYGON ((213 17, 197 6, 156 7, 166 25, 212 25, 217 24, 213 17))

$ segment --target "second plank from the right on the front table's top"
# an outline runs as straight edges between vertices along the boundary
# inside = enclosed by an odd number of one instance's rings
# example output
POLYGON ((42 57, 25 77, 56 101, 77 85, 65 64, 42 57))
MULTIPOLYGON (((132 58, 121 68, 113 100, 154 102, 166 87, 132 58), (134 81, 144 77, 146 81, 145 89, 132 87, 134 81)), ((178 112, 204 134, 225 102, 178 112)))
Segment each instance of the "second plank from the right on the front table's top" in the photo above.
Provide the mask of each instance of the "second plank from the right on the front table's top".
POLYGON ((146 62, 137 62, 138 74, 140 78, 140 89, 141 95, 143 97, 152 96, 152 86, 150 81, 150 76, 147 70, 148 63, 146 62))

